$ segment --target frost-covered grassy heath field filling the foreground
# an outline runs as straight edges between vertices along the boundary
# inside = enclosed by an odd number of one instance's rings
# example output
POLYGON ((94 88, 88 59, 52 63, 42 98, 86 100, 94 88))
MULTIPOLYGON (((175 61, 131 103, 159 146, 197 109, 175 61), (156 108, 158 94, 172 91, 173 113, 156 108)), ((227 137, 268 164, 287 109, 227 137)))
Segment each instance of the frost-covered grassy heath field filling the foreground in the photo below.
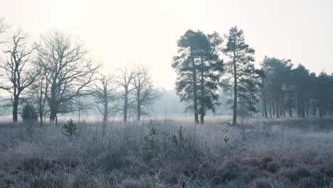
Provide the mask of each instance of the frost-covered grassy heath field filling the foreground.
POLYGON ((0 187, 333 187, 333 119, 0 125, 0 187))

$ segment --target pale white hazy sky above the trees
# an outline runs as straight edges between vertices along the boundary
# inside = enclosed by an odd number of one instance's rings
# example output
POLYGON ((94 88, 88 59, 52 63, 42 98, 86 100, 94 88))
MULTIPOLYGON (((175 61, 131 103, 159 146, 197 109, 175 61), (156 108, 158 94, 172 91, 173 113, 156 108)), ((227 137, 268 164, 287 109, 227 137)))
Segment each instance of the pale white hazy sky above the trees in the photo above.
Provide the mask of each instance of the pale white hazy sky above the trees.
POLYGON ((333 72, 332 0, 1 0, 0 17, 33 35, 59 29, 88 42, 105 70, 146 63, 154 83, 174 88, 176 41, 191 28, 222 36, 242 28, 263 57, 333 72))

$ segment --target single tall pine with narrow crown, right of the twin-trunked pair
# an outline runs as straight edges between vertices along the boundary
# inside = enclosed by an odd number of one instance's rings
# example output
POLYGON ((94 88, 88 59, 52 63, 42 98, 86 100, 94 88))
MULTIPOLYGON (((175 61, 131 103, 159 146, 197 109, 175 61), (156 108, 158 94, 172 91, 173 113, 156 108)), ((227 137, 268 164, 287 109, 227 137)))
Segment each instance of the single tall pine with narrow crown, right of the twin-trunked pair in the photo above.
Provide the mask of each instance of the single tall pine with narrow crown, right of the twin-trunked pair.
POLYGON ((258 103, 260 71, 255 69, 253 63, 255 50, 245 43, 241 29, 232 27, 226 39, 228 42, 223 53, 228 56, 229 61, 225 64, 227 78, 223 80, 222 85, 224 90, 233 93, 233 98, 229 102, 233 103, 233 125, 236 125, 238 110, 255 111, 254 105, 258 103), (238 109, 238 106, 242 109, 238 109))

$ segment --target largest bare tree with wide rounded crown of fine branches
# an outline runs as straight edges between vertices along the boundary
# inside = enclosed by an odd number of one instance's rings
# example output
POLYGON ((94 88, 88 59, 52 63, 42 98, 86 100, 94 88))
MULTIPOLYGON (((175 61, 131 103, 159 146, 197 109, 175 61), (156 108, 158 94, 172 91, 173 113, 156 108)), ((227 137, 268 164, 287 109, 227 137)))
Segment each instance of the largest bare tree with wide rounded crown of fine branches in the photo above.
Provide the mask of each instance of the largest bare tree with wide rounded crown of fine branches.
POLYGON ((90 51, 78 38, 60 31, 52 31, 42 38, 38 44, 38 57, 45 70, 50 122, 54 122, 58 113, 74 110, 75 98, 88 95, 85 89, 93 82, 101 65, 93 63, 88 56, 90 51))

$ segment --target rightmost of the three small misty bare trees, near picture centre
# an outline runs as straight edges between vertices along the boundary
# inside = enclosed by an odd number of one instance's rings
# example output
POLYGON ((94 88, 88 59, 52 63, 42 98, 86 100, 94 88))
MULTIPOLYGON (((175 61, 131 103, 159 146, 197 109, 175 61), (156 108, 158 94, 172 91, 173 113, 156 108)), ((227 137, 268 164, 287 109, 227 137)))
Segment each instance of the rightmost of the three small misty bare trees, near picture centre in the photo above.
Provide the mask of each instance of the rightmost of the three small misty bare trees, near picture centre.
POLYGON ((137 66, 134 70, 132 83, 137 108, 137 120, 141 115, 147 115, 149 105, 159 98, 152 85, 152 78, 146 66, 137 66))

